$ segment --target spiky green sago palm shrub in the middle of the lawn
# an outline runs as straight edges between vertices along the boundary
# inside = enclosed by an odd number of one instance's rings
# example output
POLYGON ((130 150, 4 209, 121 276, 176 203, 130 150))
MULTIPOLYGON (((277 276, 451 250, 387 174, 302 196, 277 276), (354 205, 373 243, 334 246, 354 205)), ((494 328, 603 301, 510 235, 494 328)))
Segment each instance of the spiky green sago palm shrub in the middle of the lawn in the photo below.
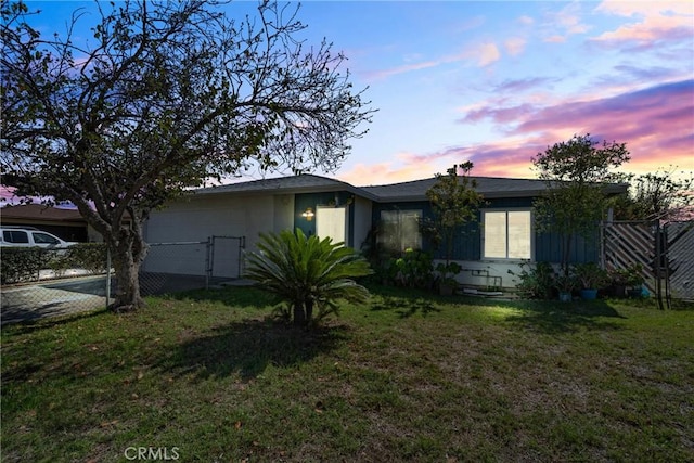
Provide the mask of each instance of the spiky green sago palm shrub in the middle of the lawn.
POLYGON ((258 252, 246 254, 245 276, 288 303, 295 325, 309 325, 337 312, 337 300, 359 304, 369 297, 369 291, 354 279, 371 274, 371 267, 344 243, 307 237, 296 229, 260 233, 257 247, 258 252))

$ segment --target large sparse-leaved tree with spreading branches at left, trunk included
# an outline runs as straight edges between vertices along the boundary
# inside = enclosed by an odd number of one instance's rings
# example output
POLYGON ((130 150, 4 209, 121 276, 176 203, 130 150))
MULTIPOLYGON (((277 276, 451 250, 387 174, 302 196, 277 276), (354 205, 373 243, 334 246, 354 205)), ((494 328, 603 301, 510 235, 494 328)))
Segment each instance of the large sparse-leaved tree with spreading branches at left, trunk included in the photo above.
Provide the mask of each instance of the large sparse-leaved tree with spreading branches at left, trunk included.
MULTIPOLYGON (((1 3, 3 183, 73 202, 114 256, 114 308, 143 304, 142 224, 209 178, 249 168, 339 166, 373 110, 345 57, 296 39, 296 5, 128 0, 102 5, 91 46, 42 37, 23 3, 1 3), (126 226, 129 223, 129 226, 126 226)), ((91 39, 90 39, 91 40, 91 39)))

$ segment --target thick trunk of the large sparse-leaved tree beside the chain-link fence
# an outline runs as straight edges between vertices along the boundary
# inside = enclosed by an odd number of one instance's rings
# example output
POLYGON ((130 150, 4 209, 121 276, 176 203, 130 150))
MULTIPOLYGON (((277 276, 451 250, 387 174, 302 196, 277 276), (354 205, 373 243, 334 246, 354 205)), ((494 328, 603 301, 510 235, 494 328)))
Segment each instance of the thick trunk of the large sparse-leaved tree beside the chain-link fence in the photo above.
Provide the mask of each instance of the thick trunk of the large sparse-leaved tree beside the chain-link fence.
POLYGON ((108 241, 108 248, 116 270, 117 291, 114 311, 132 311, 144 306, 140 295, 140 266, 146 255, 146 244, 132 230, 121 230, 115 240, 108 241))

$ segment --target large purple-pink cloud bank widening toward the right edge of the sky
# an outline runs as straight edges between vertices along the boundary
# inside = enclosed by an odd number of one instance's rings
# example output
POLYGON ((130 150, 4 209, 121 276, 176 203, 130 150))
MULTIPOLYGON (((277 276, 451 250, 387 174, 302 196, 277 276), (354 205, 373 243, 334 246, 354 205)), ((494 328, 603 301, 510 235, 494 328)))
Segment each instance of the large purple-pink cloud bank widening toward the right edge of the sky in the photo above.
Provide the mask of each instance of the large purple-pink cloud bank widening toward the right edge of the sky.
MULTIPOLYGON (((628 167, 647 171, 646 166, 672 164, 694 169, 694 80, 548 107, 479 110, 474 117, 478 120, 481 114, 504 127, 507 136, 527 137, 531 143, 534 138, 536 144, 553 144, 575 133, 591 133, 627 143, 632 154, 628 167)), ((511 154, 490 153, 497 159, 502 155, 511 154)))

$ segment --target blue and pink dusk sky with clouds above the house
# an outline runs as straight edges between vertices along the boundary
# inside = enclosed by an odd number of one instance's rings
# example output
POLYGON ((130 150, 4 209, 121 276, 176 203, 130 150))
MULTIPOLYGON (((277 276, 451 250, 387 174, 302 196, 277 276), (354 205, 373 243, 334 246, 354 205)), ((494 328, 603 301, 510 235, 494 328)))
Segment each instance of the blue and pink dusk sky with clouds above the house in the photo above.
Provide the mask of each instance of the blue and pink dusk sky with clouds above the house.
MULTIPOLYGON (((29 2, 57 31, 82 4, 29 2)), ((532 156, 586 133, 627 143, 622 171, 694 170, 692 1, 308 1, 298 18, 378 110, 329 177, 389 183, 472 160, 476 176, 534 178, 532 156)))

